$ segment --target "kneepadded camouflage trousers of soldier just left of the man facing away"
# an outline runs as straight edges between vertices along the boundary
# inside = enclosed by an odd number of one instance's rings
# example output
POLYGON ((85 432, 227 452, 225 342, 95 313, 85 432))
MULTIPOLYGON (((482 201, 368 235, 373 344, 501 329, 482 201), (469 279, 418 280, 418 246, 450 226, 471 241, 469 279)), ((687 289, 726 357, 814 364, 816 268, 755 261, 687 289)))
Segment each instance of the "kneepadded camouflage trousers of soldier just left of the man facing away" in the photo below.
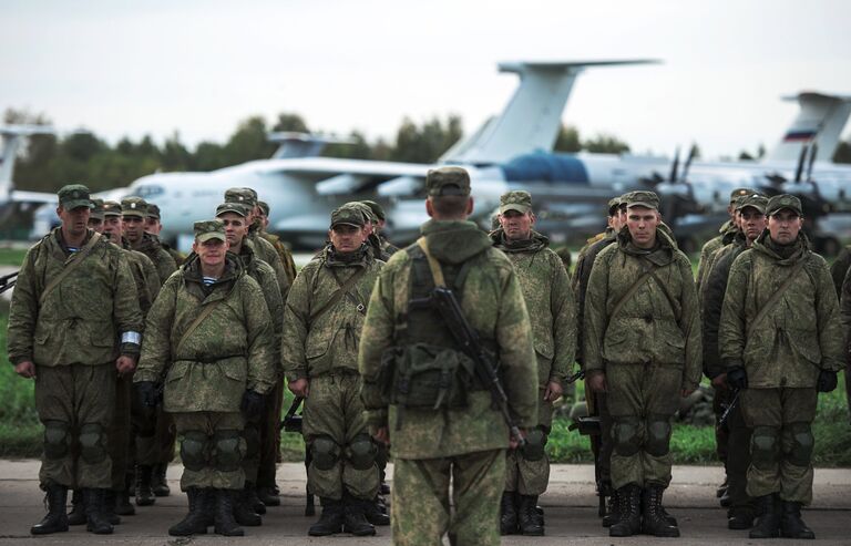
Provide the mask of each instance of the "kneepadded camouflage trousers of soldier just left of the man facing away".
MULTIPOLYGON (((352 461, 356 442, 372 442, 363 419, 360 375, 352 371, 310 378, 303 415, 301 432, 311 453, 308 490, 335 501, 342 498, 345 492, 356 498, 375 498, 379 487, 375 456, 362 470, 352 461)), ((373 443, 371 447, 375 451, 373 443)))

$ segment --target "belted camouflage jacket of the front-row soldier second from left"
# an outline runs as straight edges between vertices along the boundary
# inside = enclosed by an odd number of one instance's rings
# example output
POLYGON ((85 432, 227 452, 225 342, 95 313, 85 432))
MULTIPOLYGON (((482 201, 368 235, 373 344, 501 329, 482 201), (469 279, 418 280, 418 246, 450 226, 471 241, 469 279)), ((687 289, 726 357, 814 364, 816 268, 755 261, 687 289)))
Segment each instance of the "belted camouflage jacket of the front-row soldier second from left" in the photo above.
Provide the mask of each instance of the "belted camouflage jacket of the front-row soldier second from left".
POLYGON ((209 287, 198 261, 188 258, 163 285, 133 381, 160 382, 165 374, 168 412, 236 412, 246 389, 263 394, 275 383, 271 320, 263 290, 234 255, 209 287), (183 340, 208 306, 215 307, 183 340))

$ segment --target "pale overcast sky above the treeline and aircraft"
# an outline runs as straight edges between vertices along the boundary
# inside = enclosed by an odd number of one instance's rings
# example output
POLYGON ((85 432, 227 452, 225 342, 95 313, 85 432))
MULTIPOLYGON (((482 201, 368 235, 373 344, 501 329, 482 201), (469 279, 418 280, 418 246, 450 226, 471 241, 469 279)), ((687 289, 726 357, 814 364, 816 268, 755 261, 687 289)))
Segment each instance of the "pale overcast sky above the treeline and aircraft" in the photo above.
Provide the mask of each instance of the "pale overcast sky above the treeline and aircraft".
POLYGON ((848 0, 3 0, 0 109, 112 142, 221 142, 284 111, 369 138, 457 113, 470 133, 516 85, 499 61, 652 58, 585 72, 564 122, 634 152, 737 155, 781 136, 781 95, 851 94, 850 25, 848 0))

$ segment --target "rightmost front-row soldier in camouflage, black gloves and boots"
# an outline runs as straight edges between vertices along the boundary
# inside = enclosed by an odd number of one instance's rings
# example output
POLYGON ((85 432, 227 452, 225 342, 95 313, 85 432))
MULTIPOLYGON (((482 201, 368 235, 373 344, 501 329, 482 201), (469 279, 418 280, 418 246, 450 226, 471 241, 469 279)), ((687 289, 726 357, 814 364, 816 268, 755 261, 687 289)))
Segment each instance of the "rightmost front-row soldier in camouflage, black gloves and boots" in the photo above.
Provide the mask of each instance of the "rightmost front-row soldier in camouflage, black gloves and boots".
POLYGON ((843 365, 839 305, 827 262, 801 233, 801 202, 776 195, 766 213, 768 230, 732 262, 718 343, 753 430, 750 537, 813 538, 800 509, 812 501, 818 392, 835 389, 843 365))

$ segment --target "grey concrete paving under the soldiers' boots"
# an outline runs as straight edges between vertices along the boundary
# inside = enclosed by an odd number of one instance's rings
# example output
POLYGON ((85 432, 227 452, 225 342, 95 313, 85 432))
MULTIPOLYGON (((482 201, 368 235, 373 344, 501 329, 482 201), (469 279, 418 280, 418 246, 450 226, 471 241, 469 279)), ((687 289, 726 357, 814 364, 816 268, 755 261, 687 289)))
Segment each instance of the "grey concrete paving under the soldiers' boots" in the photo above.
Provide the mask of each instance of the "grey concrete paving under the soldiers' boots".
MULTIPOLYGON (((86 533, 84 527, 72 527, 69 533, 32 537, 29 528, 44 514, 43 494, 38 488, 38 461, 0 461, 0 546, 13 544, 134 544, 134 545, 296 545, 346 544, 388 545, 390 528, 378 527, 378 536, 355 538, 339 535, 329 538, 309 538, 307 528, 315 518, 304 516, 304 466, 281 464, 278 484, 283 505, 269 508, 262 527, 247 527, 244 538, 224 538, 206 535, 192 538, 167 536, 167 528, 180 521, 186 511, 186 497, 172 494, 157 498, 154 506, 136 508, 137 515, 124 517, 111 536, 86 533)), ((181 467, 168 468, 172 491, 178 490, 181 467)), ((718 507, 715 488, 721 481, 721 468, 714 466, 677 466, 674 483, 666 495, 666 506, 679 519, 683 538, 678 545, 745 545, 783 544, 789 539, 750 540, 747 532, 727 529, 726 512, 718 507)), ((541 497, 546 509, 545 537, 505 537, 506 545, 647 545, 675 540, 635 536, 609 538, 596 515, 593 488, 594 468, 589 465, 554 465, 551 487, 541 497)), ((317 506, 318 508, 318 506, 317 506)), ((816 471, 813 505, 804 511, 804 519, 816 532, 818 544, 851 545, 851 470, 826 468, 816 471), (847 527, 848 525, 848 527, 847 527)), ((812 544, 807 542, 806 544, 812 544)))

